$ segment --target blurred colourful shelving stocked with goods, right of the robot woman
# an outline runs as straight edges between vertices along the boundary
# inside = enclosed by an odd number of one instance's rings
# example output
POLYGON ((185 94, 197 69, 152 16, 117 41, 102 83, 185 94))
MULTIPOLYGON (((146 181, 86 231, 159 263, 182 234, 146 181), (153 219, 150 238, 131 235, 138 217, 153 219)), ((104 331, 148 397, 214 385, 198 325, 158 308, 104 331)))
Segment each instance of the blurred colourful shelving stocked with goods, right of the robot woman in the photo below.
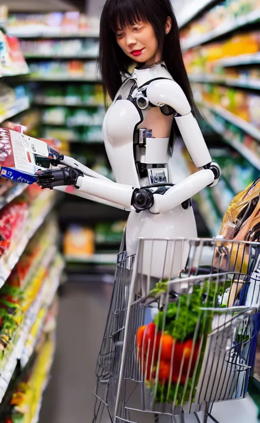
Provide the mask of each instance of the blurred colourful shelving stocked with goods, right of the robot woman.
POLYGON ((260 15, 255 0, 205 3, 192 20, 181 20, 180 34, 194 99, 206 118, 203 133, 223 172, 220 184, 197 198, 216 235, 232 197, 259 175, 260 15))

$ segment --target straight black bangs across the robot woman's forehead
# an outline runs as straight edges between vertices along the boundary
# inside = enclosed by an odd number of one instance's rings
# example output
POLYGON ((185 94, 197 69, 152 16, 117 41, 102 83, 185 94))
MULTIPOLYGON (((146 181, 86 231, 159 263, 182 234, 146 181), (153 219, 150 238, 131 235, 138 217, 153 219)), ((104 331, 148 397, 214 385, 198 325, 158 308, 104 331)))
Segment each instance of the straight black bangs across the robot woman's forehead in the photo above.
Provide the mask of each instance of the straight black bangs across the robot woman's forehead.
POLYGON ((149 10, 142 0, 117 0, 110 5, 109 24, 113 32, 139 21, 147 22, 149 10))

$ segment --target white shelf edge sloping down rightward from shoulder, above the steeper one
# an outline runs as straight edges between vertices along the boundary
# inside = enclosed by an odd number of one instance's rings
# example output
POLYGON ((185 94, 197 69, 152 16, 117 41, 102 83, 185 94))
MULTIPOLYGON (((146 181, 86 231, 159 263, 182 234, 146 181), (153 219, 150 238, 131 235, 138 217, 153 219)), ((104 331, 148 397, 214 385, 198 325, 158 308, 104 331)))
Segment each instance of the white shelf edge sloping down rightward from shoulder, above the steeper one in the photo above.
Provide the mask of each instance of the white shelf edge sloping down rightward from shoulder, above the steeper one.
POLYGON ((199 106, 205 106, 208 109, 214 111, 215 113, 219 114, 219 116, 222 116, 224 119, 228 120, 228 122, 232 123, 233 125, 236 125, 238 128, 242 129, 242 131, 251 135, 251 137, 260 141, 260 130, 255 128, 249 122, 246 122, 246 120, 242 119, 241 117, 238 117, 230 111, 223 109, 223 107, 211 104, 206 101, 204 101, 203 104, 199 104, 199 106))

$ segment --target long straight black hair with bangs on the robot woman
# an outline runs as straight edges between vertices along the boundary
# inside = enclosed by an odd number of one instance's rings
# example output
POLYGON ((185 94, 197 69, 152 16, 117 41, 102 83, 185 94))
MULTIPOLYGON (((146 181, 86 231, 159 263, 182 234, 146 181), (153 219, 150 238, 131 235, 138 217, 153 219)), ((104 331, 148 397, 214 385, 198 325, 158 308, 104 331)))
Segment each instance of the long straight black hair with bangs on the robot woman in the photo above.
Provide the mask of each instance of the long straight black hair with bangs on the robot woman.
MULTIPOLYGON (((153 26, 161 59, 173 79, 183 89, 192 113, 199 116, 183 63, 178 23, 170 0, 107 0, 100 21, 99 66, 104 90, 113 100, 122 84, 121 75, 127 75, 128 68, 133 63, 117 44, 115 35, 117 27, 132 26, 138 21, 149 22, 153 26), (165 25, 168 16, 171 18, 172 26, 166 35, 165 25)), ((173 137, 178 132, 174 119, 170 136, 170 153, 173 137)))

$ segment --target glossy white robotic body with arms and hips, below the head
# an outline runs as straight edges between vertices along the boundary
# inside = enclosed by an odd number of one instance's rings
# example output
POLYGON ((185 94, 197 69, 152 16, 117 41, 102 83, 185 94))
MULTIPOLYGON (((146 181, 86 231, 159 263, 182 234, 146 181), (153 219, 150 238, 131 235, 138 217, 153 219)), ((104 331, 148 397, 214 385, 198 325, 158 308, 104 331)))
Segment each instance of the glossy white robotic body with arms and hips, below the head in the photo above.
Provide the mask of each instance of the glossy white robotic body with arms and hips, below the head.
MULTIPOLYGON (((141 162, 144 166, 150 166, 151 169, 160 168, 164 164, 166 174, 169 175, 168 183, 173 184, 177 179, 174 176, 174 168, 171 167, 168 157, 168 138, 156 133, 156 138, 146 138, 146 147, 143 144, 135 144, 134 135, 137 135, 137 128, 144 128, 144 120, 150 122, 152 128, 147 130, 155 131, 156 128, 162 128, 163 122, 164 134, 170 136, 172 119, 166 118, 159 109, 158 119, 149 117, 151 106, 160 105, 171 106, 180 117, 176 117, 177 125, 183 135, 183 140, 187 146, 190 156, 196 166, 202 167, 211 162, 206 143, 201 134, 200 128, 190 113, 190 105, 181 89, 173 81, 171 75, 164 64, 157 64, 148 69, 135 70, 132 77, 127 79, 119 92, 113 104, 110 106, 103 125, 105 146, 107 155, 115 174, 116 183, 104 178, 98 178, 90 175, 87 168, 82 169, 85 176, 79 176, 77 186, 78 195, 81 193, 89 198, 98 198, 98 201, 105 204, 112 204, 116 207, 124 207, 128 210, 134 210, 131 205, 132 194, 136 188, 145 186, 148 177, 139 176, 136 162, 141 162), (156 80, 154 80, 157 78, 156 80), (162 79, 163 78, 163 79, 162 79), (145 110, 140 109, 137 104, 137 98, 143 96, 148 98, 145 110), (168 126, 167 126, 168 125, 168 126)), ((150 116, 154 116, 153 114, 150 116)), ((136 142, 136 141, 135 141, 136 142)), ((148 171, 147 170, 147 171, 148 171)), ((168 176, 167 176, 168 178, 168 176)), ((126 226, 126 249, 128 254, 135 254, 138 237, 144 238, 174 238, 174 237, 196 237, 197 228, 193 215, 192 207, 185 209, 181 204, 203 188, 212 184, 214 174, 211 170, 200 170, 187 178, 184 178, 175 186, 172 186, 164 195, 154 194, 154 205, 150 210, 144 210, 137 213, 131 211, 126 226)), ((167 184, 166 184, 167 185, 167 184)), ((166 244, 165 244, 166 246, 166 244)), ((143 268, 143 273, 147 271, 150 263, 151 246, 143 251, 144 263, 147 262, 147 269, 143 268), (147 260, 146 258, 147 257, 147 260)), ((172 257, 167 257, 164 263, 165 249, 153 246, 153 268, 151 275, 161 278, 161 271, 166 269, 164 278, 171 275, 177 275, 180 265, 185 263, 176 263, 171 268, 172 257)), ((185 254, 183 255, 185 261, 185 254)), ((145 266, 145 264, 144 264, 145 266)))

